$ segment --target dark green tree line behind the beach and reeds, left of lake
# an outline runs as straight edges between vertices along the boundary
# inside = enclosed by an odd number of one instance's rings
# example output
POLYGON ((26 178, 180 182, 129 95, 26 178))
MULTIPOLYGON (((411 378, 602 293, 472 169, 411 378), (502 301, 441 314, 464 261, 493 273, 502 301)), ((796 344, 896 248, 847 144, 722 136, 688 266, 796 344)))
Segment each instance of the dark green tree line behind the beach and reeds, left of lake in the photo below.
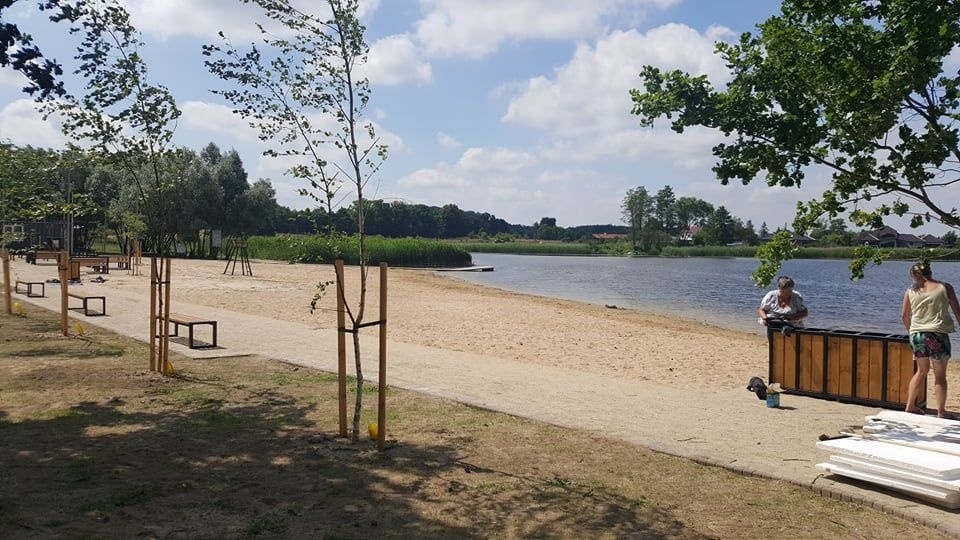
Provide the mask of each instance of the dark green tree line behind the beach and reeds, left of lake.
MULTIPOLYGON (((4 144, 0 151, 4 158, 0 164, 0 222, 58 219, 70 212, 80 225, 80 245, 90 246, 106 235, 121 245, 131 237, 143 239, 144 216, 157 204, 158 194, 130 181, 128 172, 97 163, 79 150, 58 152, 4 144), (28 208, 30 212, 23 211, 28 208)), ((221 230, 224 236, 357 232, 356 203, 332 214, 324 207, 295 210, 280 205, 269 180, 249 181, 235 150, 222 151, 209 143, 199 152, 179 148, 167 161, 170 170, 182 172, 164 193, 172 209, 165 226, 189 255, 202 254, 209 238, 201 236, 201 231, 212 229, 221 230)), ((616 225, 563 228, 550 217, 533 225, 511 224, 455 204, 438 207, 383 200, 364 204, 367 232, 386 237, 573 241, 595 232, 626 230, 616 225)))

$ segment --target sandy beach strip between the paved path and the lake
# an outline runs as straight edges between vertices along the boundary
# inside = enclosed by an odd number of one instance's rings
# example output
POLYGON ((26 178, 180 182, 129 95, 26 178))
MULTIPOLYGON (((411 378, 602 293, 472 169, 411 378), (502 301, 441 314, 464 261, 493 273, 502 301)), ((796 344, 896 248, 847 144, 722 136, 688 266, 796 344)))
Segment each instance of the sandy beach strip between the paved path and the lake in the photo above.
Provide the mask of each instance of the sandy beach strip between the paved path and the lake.
MULTIPOLYGON (((332 286, 314 313, 309 306, 317 283, 334 279, 332 266, 254 261, 253 277, 223 270, 218 261, 174 260, 174 301, 336 327, 332 286)), ((356 309, 359 269, 347 267, 346 278, 356 309)), ((108 279, 112 288, 147 287, 146 278, 125 271, 108 279)), ((375 320, 376 268, 368 287, 364 320, 375 320)), ((734 388, 766 376, 766 340, 754 334, 481 287, 429 270, 390 269, 388 293, 392 341, 693 388, 734 388)))

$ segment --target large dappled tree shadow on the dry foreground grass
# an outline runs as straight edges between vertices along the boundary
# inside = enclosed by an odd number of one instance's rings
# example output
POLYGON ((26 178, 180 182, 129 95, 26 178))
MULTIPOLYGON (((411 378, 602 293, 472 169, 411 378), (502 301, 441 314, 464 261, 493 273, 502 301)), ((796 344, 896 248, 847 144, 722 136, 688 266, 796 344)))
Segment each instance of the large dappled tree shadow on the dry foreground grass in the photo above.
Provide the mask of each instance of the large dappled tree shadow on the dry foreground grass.
POLYGON ((0 537, 697 536, 642 500, 480 469, 454 445, 350 444, 288 395, 188 402, 144 413, 114 398, 17 422, 0 411, 0 537))

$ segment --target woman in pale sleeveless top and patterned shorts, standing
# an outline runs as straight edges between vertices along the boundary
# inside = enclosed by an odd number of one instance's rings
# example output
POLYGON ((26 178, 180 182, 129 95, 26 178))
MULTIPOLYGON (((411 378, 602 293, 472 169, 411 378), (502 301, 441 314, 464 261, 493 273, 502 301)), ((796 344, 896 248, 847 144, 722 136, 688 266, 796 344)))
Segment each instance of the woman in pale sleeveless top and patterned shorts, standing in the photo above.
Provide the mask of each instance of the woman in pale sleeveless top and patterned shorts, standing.
POLYGON ((947 413, 947 360, 950 359, 950 332, 953 332, 953 319, 950 308, 960 320, 960 305, 957 293, 944 281, 933 279, 930 263, 918 262, 910 267, 913 285, 903 293, 903 308, 900 318, 910 333, 910 348, 917 362, 917 372, 910 379, 907 389, 906 411, 924 414, 917 407, 917 394, 920 386, 927 380, 930 366, 933 365, 934 388, 937 391, 937 416, 954 418, 947 413))

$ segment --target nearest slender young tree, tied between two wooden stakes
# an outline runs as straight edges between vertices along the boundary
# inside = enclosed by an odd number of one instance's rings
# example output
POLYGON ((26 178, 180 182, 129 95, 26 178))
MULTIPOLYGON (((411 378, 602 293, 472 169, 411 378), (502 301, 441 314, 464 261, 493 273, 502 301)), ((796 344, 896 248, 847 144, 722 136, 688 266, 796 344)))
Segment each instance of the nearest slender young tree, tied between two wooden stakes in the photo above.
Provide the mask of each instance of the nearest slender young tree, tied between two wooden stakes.
POLYGON ((363 399, 358 330, 366 306, 369 257, 364 188, 387 157, 373 124, 364 120, 370 88, 358 76, 358 68, 367 59, 365 29, 357 18, 356 0, 327 0, 324 16, 301 11, 288 0, 245 1, 259 5, 291 37, 276 37, 260 26, 262 50, 253 45, 242 52, 221 32, 222 45, 203 47, 203 54, 212 57, 205 64, 237 87, 214 92, 260 131, 261 140, 272 144, 266 155, 293 163, 288 172, 307 184, 300 193, 325 205, 328 218, 335 219, 335 197, 344 182, 356 194, 360 296, 356 309, 347 303, 357 374, 352 434, 356 441, 363 399))

